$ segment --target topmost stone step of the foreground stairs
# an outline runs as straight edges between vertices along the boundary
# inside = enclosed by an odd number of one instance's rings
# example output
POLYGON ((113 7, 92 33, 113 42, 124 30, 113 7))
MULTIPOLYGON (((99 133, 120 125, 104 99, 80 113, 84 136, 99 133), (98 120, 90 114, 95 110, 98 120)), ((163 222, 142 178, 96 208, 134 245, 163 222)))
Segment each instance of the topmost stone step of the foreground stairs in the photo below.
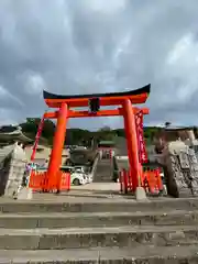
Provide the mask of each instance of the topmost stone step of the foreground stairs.
MULTIPOLYGON (((57 196, 53 196, 53 199, 56 200, 57 196)), ((75 202, 74 199, 70 199, 67 196, 62 196, 62 200, 65 199, 65 202, 57 202, 53 200, 47 200, 47 196, 42 196, 38 200, 32 201, 3 201, 0 200, 0 213, 20 213, 20 212, 112 212, 112 211, 123 211, 123 212, 135 212, 135 211, 156 211, 163 209, 167 210, 198 210, 198 198, 156 198, 148 201, 140 202, 134 200, 132 197, 125 197, 122 199, 117 199, 114 197, 109 201, 109 199, 95 199, 84 202, 84 198, 79 199, 79 202, 75 202), (43 200, 43 199, 46 200, 43 200), (97 200, 97 201, 96 201, 97 200)))

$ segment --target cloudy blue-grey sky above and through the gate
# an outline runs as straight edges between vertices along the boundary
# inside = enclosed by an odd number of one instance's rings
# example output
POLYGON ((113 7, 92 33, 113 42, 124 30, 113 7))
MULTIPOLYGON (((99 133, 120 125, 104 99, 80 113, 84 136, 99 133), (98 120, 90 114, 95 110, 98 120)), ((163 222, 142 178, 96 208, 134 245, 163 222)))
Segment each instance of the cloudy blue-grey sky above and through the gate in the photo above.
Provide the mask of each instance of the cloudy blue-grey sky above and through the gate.
MULTIPOLYGON (((198 0, 0 0, 0 124, 40 117, 42 90, 152 85, 146 124, 198 124, 198 0)), ((122 127, 81 119, 70 127, 122 127)))

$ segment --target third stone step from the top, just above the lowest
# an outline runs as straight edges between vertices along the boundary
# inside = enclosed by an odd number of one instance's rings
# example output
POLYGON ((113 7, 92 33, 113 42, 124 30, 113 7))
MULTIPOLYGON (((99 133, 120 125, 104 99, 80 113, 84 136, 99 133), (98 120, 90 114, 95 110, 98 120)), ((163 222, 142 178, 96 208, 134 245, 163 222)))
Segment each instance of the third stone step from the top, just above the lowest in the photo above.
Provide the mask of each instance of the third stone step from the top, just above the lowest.
POLYGON ((198 227, 117 227, 75 229, 0 229, 0 250, 63 250, 97 246, 197 245, 198 227))

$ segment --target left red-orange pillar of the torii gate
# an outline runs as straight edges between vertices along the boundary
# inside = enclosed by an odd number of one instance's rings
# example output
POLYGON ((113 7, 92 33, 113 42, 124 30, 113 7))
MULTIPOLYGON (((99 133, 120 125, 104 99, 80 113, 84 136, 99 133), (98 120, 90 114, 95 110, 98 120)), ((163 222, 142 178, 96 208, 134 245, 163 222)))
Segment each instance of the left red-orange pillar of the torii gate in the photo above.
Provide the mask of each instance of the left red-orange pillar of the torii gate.
POLYGON ((58 170, 62 165, 62 152, 66 135, 66 124, 67 124, 68 107, 66 103, 62 103, 58 111, 57 124, 55 130, 55 135, 53 140, 53 148, 51 152, 51 158, 47 170, 48 187, 57 183, 58 170))

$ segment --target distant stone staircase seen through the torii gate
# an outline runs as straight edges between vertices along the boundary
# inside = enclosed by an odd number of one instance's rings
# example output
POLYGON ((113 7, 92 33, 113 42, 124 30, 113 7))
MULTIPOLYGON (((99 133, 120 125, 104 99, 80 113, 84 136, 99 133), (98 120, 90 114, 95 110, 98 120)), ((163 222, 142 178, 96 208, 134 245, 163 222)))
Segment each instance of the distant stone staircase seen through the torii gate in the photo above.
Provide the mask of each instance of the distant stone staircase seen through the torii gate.
POLYGON ((112 182, 112 161, 100 158, 97 164, 94 183, 112 182))

